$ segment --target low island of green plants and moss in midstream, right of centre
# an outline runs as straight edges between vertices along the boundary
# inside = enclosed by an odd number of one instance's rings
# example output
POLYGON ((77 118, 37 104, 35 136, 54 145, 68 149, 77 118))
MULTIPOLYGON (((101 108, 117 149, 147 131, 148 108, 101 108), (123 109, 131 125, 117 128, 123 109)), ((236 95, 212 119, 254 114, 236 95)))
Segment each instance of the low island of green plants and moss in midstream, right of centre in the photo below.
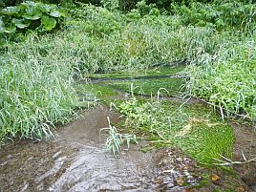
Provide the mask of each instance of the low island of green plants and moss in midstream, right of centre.
POLYGON ((231 157, 232 128, 200 105, 188 106, 174 101, 138 100, 122 102, 118 110, 125 115, 125 127, 134 133, 146 133, 153 145, 175 146, 205 164, 220 155, 231 157))

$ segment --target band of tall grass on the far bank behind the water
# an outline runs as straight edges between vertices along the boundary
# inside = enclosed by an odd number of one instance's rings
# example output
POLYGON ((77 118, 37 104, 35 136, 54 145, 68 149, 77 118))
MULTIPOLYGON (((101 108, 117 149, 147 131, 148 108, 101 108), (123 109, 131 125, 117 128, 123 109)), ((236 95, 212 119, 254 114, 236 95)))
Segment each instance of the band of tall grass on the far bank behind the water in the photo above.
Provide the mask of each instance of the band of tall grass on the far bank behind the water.
POLYGON ((85 73, 147 69, 156 63, 214 53, 216 49, 214 36, 218 34, 214 30, 181 27, 176 16, 134 19, 131 14, 92 6, 77 12, 80 16, 68 24, 67 33, 70 41, 80 45, 73 53, 79 53, 79 69, 85 73))

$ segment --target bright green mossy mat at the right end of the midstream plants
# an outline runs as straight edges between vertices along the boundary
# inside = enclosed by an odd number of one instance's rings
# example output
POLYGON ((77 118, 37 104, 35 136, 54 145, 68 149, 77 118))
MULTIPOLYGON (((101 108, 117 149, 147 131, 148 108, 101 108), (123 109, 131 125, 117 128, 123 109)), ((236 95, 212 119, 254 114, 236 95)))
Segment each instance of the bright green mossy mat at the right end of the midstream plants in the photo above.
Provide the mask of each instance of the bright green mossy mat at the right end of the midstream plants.
POLYGON ((210 126, 210 123, 194 123, 191 133, 176 139, 184 153, 203 163, 220 159, 220 155, 232 155, 232 129, 226 124, 210 126))

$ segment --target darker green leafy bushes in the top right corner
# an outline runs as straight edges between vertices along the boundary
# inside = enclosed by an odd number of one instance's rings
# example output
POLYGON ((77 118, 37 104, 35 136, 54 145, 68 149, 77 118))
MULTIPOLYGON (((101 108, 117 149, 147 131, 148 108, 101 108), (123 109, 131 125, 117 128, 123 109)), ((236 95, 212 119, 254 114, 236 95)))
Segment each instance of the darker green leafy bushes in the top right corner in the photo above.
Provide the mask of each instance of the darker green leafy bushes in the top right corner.
POLYGON ((226 28, 249 28, 256 17, 256 5, 239 1, 215 1, 212 4, 193 2, 189 5, 172 4, 172 12, 180 14, 185 25, 226 28))

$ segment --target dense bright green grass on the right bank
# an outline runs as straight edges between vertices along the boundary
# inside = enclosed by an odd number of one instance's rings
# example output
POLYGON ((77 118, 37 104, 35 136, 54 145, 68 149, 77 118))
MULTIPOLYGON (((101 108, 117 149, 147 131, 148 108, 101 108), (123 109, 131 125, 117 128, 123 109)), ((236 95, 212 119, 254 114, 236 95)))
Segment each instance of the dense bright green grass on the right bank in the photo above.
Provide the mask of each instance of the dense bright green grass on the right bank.
POLYGON ((224 108, 224 115, 244 115, 256 119, 255 37, 244 36, 220 47, 213 55, 204 54, 188 68, 188 90, 194 96, 224 108))

